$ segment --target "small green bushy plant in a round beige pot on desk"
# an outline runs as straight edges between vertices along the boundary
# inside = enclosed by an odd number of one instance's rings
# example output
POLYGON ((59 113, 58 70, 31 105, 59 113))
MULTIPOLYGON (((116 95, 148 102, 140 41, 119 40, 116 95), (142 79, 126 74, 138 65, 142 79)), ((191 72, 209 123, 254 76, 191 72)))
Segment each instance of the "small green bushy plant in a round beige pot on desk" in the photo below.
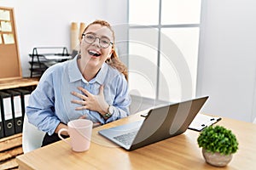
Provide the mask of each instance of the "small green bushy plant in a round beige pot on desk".
POLYGON ((197 139, 199 147, 207 163, 215 167, 224 167, 238 150, 236 136, 222 126, 206 127, 197 139))

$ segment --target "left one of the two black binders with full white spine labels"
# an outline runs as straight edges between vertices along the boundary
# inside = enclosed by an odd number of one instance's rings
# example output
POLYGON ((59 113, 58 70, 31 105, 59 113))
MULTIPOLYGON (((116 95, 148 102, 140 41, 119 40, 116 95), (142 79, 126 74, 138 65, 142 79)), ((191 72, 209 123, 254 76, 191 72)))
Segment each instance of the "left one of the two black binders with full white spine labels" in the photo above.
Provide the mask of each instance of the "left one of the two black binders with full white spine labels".
POLYGON ((15 134, 15 121, 12 113, 11 95, 0 92, 0 102, 4 137, 8 137, 15 134))

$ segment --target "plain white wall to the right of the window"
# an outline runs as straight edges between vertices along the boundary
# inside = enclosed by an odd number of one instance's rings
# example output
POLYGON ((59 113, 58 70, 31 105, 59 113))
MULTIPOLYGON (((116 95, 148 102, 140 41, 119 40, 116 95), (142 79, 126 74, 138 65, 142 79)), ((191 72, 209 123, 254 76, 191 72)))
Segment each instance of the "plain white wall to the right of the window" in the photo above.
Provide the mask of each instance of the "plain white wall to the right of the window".
POLYGON ((203 111, 252 122, 256 116, 256 1, 202 1, 197 95, 203 111))

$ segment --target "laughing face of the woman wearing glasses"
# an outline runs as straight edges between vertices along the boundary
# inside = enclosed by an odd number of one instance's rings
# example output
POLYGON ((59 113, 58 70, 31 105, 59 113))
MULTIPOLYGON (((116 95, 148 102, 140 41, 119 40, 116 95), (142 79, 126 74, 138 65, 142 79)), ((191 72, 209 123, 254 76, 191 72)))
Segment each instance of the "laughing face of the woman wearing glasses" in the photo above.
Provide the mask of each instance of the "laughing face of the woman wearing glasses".
POLYGON ((108 48, 102 48, 106 45, 108 40, 109 42, 113 42, 112 31, 110 31, 107 26, 95 24, 89 26, 87 30, 84 31, 84 35, 87 37, 87 42, 85 42, 86 38, 83 36, 80 43, 81 61, 84 66, 90 65, 101 68, 102 64, 106 59, 110 58, 113 52, 112 44, 109 44, 108 48), (95 41, 90 41, 93 40, 94 37, 96 37, 95 41))

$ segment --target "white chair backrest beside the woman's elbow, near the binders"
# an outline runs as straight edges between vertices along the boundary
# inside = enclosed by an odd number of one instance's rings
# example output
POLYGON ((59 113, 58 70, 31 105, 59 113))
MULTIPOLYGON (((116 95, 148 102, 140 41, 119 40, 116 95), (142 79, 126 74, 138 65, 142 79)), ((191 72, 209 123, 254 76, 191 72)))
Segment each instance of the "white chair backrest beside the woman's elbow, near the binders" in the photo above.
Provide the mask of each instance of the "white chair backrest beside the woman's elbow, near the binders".
POLYGON ((24 153, 38 149, 42 145, 44 132, 39 131, 37 127, 28 122, 27 116, 24 116, 22 130, 22 149, 24 153))

